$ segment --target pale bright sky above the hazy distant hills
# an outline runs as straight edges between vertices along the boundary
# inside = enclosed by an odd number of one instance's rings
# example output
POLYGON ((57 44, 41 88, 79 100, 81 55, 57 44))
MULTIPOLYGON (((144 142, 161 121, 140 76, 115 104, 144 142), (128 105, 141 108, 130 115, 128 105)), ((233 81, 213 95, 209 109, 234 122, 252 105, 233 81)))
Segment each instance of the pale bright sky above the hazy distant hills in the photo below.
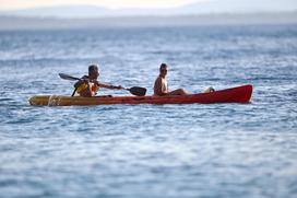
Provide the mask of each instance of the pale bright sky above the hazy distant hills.
POLYGON ((0 10, 21 10, 36 7, 88 4, 109 9, 123 8, 175 8, 207 0, 0 0, 0 10))

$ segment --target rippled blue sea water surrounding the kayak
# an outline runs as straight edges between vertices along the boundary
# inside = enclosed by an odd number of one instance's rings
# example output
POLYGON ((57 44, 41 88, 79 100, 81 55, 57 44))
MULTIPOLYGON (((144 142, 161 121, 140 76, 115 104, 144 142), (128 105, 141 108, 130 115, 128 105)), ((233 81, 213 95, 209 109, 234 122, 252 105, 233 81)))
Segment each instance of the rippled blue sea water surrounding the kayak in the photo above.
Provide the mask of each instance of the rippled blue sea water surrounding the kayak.
MULTIPOLYGON (((0 32, 0 197, 297 197, 297 25, 0 32), (29 106, 100 81, 253 84, 250 104, 29 106)), ((130 95, 102 89, 100 95, 130 95)))

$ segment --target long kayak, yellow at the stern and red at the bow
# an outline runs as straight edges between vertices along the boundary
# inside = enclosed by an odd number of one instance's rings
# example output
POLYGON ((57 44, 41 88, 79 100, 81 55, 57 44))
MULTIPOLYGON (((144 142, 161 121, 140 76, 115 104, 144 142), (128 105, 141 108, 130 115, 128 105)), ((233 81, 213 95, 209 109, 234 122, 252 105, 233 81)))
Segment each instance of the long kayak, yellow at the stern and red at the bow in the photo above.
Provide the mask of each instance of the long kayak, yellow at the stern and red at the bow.
POLYGON ((213 103, 249 103, 252 85, 242 85, 210 93, 166 96, 66 96, 37 95, 29 98, 34 106, 72 106, 72 105, 115 105, 115 104, 213 104, 213 103))

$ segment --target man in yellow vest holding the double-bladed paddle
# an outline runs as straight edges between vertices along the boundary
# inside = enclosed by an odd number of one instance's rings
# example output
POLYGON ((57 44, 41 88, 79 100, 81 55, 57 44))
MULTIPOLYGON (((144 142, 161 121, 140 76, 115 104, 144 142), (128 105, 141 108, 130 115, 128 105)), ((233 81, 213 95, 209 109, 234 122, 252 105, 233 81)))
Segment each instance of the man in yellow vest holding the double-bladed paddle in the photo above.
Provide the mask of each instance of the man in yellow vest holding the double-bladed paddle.
POLYGON ((88 66, 88 75, 84 75, 81 80, 79 80, 74 84, 75 90, 72 95, 74 95, 76 91, 80 94, 80 96, 92 97, 97 94, 99 88, 106 88, 111 90, 123 89, 121 85, 114 86, 110 84, 98 82, 97 81, 98 77, 99 77, 98 66, 96 65, 88 66))

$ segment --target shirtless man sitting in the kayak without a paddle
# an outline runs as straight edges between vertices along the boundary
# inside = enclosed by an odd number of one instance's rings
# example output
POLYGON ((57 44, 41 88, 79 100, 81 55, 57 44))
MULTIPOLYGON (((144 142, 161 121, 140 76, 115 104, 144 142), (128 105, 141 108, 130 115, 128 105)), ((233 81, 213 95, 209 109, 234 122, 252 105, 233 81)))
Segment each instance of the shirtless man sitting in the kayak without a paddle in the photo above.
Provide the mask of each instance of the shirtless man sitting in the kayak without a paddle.
POLYGON ((157 77, 154 84, 154 95, 163 96, 163 95, 187 95, 191 94, 190 92, 178 89, 174 91, 169 91, 167 83, 167 73, 168 66, 166 63, 162 63, 159 67, 159 75, 157 77))

